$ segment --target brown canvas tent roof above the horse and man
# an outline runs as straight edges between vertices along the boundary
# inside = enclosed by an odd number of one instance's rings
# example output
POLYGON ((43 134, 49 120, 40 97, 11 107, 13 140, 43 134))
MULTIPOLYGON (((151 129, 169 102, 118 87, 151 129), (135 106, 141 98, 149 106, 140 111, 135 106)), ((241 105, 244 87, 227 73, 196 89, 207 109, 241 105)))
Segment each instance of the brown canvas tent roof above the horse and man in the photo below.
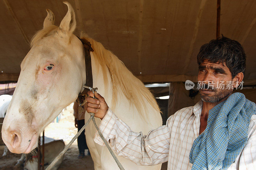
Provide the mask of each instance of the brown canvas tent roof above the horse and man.
MULTIPOLYGON (((215 38, 217 1, 68 0, 84 31, 113 51, 143 82, 196 81, 196 55, 215 38), (141 74, 140 74, 141 72, 141 74)), ((61 0, 0 2, 0 82, 17 81, 20 62, 49 8, 59 25, 67 12, 61 0), (3 73, 1 73, 3 71, 3 73)), ((244 46, 244 82, 256 84, 256 2, 222 0, 220 33, 244 46)))

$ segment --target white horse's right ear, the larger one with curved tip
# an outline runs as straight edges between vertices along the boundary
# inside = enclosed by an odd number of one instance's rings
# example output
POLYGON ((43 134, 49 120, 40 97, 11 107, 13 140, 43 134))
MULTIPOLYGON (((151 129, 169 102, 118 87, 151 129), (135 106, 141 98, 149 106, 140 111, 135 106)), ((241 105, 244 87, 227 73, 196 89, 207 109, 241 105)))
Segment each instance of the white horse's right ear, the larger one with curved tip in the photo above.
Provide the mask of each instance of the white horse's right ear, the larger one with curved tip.
POLYGON ((60 22, 59 28, 61 31, 73 33, 76 29, 76 17, 74 9, 72 8, 71 4, 69 4, 67 1, 64 1, 63 3, 68 6, 68 12, 60 22))

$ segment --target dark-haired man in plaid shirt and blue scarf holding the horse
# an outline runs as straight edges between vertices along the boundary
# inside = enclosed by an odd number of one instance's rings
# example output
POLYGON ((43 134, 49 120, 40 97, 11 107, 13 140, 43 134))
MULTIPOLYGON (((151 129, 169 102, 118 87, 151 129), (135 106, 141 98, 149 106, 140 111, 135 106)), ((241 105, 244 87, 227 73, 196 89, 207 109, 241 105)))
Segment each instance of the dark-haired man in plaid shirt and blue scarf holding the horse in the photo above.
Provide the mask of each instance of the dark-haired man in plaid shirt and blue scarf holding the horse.
MULTIPOLYGON (((201 99, 170 116, 147 136, 131 131, 100 94, 88 92, 87 111, 118 155, 138 165, 168 160, 168 169, 256 169, 255 103, 232 91, 245 71, 244 49, 224 36, 204 44, 197 55, 201 99), (233 82, 233 83, 232 83, 233 82)), ((94 141, 103 145, 96 133, 94 141)))

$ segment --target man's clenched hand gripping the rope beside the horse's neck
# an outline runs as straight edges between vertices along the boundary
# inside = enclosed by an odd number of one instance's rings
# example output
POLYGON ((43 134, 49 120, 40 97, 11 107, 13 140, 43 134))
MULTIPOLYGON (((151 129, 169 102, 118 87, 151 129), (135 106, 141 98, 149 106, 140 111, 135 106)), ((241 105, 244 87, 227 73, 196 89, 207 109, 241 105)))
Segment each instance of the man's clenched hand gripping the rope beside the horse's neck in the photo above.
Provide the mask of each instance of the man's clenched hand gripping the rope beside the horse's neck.
POLYGON ((97 99, 92 98, 94 96, 92 91, 88 91, 88 95, 90 97, 86 98, 86 101, 87 101, 86 111, 94 113, 95 117, 98 117, 102 120, 108 111, 108 105, 105 99, 97 92, 95 92, 95 97, 97 99))

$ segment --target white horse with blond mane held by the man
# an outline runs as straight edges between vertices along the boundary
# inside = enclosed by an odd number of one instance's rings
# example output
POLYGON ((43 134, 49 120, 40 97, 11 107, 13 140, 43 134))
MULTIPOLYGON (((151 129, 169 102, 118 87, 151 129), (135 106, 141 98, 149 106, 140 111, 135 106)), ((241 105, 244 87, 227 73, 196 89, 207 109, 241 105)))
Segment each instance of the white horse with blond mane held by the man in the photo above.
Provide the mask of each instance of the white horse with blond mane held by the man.
MULTIPOLYGON (((37 146, 38 135, 54 120, 64 107, 76 100, 85 84, 84 47, 73 34, 76 28, 75 12, 68 2, 68 12, 54 26, 52 11, 44 20, 31 49, 21 63, 20 77, 2 128, 4 143, 11 152, 29 153, 37 146)), ((162 125, 155 98, 143 83, 101 43, 87 37, 94 52, 92 57, 93 86, 104 96, 108 106, 126 122, 133 131, 149 130, 162 125)), ((89 114, 85 115, 85 121, 89 114)), ((97 118, 97 124, 100 119, 97 118)), ((108 149, 93 142, 96 132, 91 122, 86 131, 86 141, 95 169, 118 169, 108 149)), ((156 166, 138 166, 117 156, 125 169, 160 169, 156 166)))

